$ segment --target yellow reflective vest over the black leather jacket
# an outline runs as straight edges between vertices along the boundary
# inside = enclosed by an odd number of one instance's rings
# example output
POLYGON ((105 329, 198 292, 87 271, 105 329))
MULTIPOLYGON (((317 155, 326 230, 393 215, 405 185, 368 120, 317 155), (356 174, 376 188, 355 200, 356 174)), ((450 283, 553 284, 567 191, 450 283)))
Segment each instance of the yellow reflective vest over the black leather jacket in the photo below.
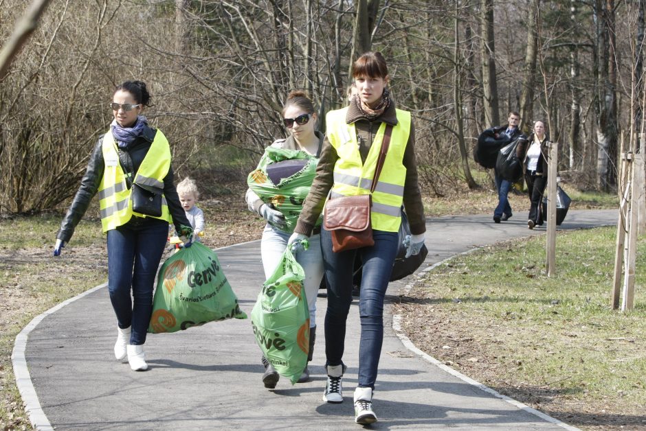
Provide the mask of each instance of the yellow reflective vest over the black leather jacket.
MULTIPOLYGON (((126 176, 132 174, 125 174, 119 163, 119 154, 112 131, 104 135, 102 150, 105 171, 99 186, 99 205, 103 232, 122 226, 132 218, 133 214, 138 217, 151 217, 151 215, 133 211, 132 188, 129 189, 126 183, 126 176)), ((163 190, 164 178, 168 170, 170 170, 170 146, 164 134, 157 130, 151 148, 137 170, 133 182, 163 190)), ((166 220, 169 223, 172 221, 164 195, 161 196, 161 216, 154 218, 166 220)))

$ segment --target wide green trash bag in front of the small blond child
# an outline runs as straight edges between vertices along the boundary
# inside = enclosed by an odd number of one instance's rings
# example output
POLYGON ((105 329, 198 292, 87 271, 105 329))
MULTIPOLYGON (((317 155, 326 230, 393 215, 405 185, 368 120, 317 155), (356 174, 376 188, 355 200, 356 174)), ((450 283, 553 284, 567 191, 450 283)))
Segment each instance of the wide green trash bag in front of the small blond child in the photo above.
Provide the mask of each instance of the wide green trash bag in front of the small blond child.
POLYGON ((247 318, 240 310, 217 255, 194 242, 166 259, 157 274, 148 332, 175 332, 227 318, 247 318))

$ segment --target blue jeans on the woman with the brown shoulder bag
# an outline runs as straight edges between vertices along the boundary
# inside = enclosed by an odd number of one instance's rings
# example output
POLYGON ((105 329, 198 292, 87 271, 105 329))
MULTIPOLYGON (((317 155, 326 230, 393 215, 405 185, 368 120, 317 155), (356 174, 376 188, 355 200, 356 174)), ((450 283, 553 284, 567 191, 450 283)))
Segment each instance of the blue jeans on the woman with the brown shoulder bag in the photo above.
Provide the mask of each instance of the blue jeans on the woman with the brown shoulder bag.
POLYGON ((397 255, 397 232, 372 231, 375 245, 357 250, 332 251, 332 236, 321 231, 321 250, 328 287, 328 308, 325 314, 326 365, 342 364, 346 338, 346 319, 352 302, 352 279, 355 255, 363 262, 359 317, 359 384, 375 388, 381 345, 383 343, 383 298, 397 255))

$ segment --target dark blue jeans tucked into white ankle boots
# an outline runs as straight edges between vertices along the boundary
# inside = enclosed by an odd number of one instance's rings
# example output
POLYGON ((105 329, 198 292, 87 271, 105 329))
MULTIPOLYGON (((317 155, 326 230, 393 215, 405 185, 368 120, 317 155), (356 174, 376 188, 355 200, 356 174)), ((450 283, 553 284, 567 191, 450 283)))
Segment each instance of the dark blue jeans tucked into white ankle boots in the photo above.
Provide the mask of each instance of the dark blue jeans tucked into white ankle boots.
POLYGON ((155 275, 167 239, 168 223, 156 219, 137 218, 108 231, 110 301, 119 327, 132 326, 131 345, 146 342, 155 275))

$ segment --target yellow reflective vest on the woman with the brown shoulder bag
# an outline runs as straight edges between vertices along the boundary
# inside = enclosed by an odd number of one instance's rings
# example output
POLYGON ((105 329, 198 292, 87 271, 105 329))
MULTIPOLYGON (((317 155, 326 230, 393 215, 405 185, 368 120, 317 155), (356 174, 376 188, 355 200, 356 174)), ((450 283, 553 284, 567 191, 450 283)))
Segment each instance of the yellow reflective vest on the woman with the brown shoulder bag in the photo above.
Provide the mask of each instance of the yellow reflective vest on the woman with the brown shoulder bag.
MULTIPOLYGON (((348 108, 331 110, 326 115, 327 137, 333 145, 339 159, 334 165, 334 185, 331 198, 335 196, 355 196, 370 194, 372 178, 375 176, 377 159, 381 150, 381 141, 386 130, 386 123, 381 123, 377 135, 366 157, 361 163, 355 124, 346 123, 348 108)), ((392 128, 390 146, 386 161, 372 192, 372 210, 370 222, 372 229, 397 232, 401 223, 401 203, 403 201, 406 168, 403 165, 403 154, 410 135, 410 113, 397 109, 397 126, 392 128)))

